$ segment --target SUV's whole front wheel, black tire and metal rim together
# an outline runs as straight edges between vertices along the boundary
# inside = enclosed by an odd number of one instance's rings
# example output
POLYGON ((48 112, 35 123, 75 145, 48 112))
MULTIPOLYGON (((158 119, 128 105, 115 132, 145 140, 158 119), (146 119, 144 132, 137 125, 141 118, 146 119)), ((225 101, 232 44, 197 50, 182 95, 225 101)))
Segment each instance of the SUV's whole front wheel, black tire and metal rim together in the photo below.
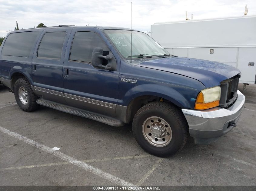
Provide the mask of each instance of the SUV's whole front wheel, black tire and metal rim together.
POLYGON ((135 114, 132 130, 148 153, 166 157, 178 153, 188 137, 188 124, 181 110, 169 103, 152 102, 135 114))

